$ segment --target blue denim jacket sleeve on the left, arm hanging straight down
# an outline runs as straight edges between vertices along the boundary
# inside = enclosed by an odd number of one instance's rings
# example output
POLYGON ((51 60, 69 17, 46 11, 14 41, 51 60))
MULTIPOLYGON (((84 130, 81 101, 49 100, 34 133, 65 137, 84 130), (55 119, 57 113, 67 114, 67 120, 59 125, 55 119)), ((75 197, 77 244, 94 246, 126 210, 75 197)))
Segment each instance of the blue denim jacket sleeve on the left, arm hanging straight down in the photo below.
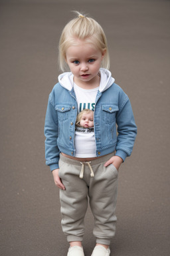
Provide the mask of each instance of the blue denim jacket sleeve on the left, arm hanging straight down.
POLYGON ((46 165, 50 166, 50 170, 58 169, 59 149, 57 146, 58 137, 58 118, 54 104, 52 103, 52 94, 48 99, 48 106, 46 109, 46 118, 44 123, 45 140, 45 158, 46 165))

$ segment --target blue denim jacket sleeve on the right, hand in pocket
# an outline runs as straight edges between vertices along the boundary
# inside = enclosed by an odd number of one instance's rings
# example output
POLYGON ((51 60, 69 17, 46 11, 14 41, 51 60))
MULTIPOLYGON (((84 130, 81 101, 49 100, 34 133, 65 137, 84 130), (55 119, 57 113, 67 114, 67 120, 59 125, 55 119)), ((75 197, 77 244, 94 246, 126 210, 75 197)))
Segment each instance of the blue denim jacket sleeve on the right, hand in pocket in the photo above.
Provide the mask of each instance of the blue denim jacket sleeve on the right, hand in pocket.
POLYGON ((123 160, 131 155, 135 137, 137 135, 137 126, 133 117, 133 111, 128 96, 122 92, 120 95, 120 106, 116 117, 118 125, 118 138, 116 145, 116 155, 123 160))

